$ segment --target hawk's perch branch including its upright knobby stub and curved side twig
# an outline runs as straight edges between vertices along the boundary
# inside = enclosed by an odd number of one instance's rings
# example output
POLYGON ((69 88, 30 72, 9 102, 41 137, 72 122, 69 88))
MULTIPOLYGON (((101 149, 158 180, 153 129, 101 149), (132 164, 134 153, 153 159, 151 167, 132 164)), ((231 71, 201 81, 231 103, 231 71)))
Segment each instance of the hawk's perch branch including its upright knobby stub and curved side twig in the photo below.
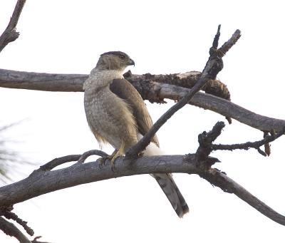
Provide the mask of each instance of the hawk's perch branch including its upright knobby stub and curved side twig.
MULTIPOLYGON (((219 122, 208 133, 200 134, 199 148, 195 154, 140 157, 135 161, 133 158, 129 160, 128 157, 120 157, 115 161, 115 171, 111 170, 109 160, 107 160, 105 166, 101 166, 98 162, 85 164, 77 162, 60 170, 51 170, 64 162, 85 160, 88 156, 94 154, 105 155, 104 152, 98 150, 90 150, 84 152, 83 155, 68 155, 56 158, 32 172, 26 179, 0 187, 0 208, 11 208, 11 205, 33 197, 89 182, 129 175, 182 172, 203 177, 212 185, 220 187, 224 192, 234 193, 266 217, 285 225, 284 216, 247 192, 244 187, 227 177, 224 172, 212 168, 212 165, 219 162, 219 160, 209 157, 209 153, 212 152, 212 143, 221 134, 222 128, 224 128, 224 123, 219 122)), ((274 138, 276 139, 278 136, 279 134, 275 135, 274 138)), ((267 143, 269 140, 272 140, 272 138, 264 138, 263 142, 267 143)))

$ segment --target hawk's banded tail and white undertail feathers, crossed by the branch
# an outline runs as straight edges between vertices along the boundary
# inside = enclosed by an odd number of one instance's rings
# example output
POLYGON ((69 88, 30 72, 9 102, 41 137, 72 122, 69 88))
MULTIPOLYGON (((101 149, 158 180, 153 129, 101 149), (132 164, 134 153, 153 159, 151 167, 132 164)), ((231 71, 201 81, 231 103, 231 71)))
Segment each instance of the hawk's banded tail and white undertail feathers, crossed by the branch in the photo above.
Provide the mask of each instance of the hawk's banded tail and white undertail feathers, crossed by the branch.
MULTIPOLYGON (((160 148, 158 148, 155 143, 150 143, 150 145, 147 146, 143 153, 144 156, 163 154, 164 152, 160 150, 160 148)), ((160 185, 162 191, 165 192, 166 197, 170 201, 178 217, 183 217, 184 214, 189 212, 189 207, 170 173, 152 174, 152 177, 155 177, 155 180, 157 181, 158 185, 160 185)))

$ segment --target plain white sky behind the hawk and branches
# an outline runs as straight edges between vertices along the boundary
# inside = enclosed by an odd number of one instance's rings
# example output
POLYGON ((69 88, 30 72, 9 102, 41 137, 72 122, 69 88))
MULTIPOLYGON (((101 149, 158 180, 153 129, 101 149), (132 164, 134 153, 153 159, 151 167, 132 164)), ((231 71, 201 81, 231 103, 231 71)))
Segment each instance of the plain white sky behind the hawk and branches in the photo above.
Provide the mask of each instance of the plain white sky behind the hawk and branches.
MULTIPOLYGON (((0 1, 0 30, 16 1, 0 1)), ((282 1, 56 1, 28 0, 17 30, 21 35, 0 55, 0 67, 46 73, 89 73, 100 53, 125 51, 133 73, 202 71, 218 24, 220 43, 236 29, 242 38, 219 73, 232 101, 261 115, 285 118, 284 7, 282 1)), ((0 122, 28 118, 6 137, 13 148, 41 165, 54 157, 98 148, 83 110, 83 93, 0 88, 0 122)), ((173 105, 147 103, 152 118, 173 105)), ((159 133, 168 154, 197 149, 197 135, 218 114, 187 107, 159 133)), ((217 143, 259 140, 262 133, 237 121, 217 143)), ((285 214, 284 138, 272 155, 256 150, 214 152, 227 172, 277 212, 285 214)), ((105 147, 111 152, 110 147, 105 147)), ((93 158, 94 159, 94 158, 93 158)), ((21 167, 28 175, 35 167, 21 167)), ((20 180, 26 175, 13 175, 20 180)), ((179 219, 149 175, 80 185, 15 205, 36 235, 48 242, 284 242, 284 226, 264 217, 234 195, 196 175, 175 175, 190 213, 179 219)), ((0 242, 17 242, 0 234, 0 242)))

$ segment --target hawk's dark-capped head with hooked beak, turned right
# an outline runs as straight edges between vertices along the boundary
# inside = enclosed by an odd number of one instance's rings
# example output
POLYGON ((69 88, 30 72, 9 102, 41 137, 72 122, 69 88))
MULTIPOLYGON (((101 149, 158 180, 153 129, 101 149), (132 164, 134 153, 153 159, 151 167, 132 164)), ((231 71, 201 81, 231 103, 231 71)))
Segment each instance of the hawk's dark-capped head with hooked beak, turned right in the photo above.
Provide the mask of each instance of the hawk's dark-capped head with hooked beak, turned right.
POLYGON ((135 62, 126 53, 122 51, 108 51, 100 56, 96 69, 124 71, 130 65, 135 65, 135 62))

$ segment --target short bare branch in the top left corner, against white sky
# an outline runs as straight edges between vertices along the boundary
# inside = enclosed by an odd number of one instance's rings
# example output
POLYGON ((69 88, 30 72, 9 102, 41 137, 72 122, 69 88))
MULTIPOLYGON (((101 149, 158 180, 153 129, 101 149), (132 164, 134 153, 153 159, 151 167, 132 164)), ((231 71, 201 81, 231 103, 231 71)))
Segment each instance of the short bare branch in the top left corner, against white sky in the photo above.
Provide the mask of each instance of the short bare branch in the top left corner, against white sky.
POLYGON ((19 32, 16 32, 16 25, 18 24, 21 11, 24 8, 26 0, 18 0, 11 16, 8 26, 5 31, 0 36, 0 52, 7 46, 10 42, 15 41, 19 37, 19 32))

